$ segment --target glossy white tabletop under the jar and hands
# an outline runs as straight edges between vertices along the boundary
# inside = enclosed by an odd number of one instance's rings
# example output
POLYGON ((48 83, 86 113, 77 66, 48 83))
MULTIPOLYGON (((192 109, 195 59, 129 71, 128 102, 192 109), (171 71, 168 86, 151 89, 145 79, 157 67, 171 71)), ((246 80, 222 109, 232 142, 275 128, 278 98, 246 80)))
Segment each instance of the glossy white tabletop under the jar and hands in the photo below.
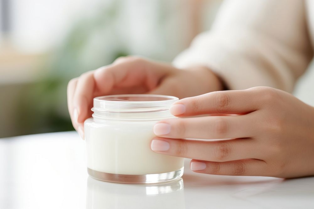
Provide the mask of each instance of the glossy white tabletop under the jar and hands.
POLYGON ((76 132, 0 139, 0 208, 314 208, 314 177, 193 173, 161 185, 90 178, 76 132))

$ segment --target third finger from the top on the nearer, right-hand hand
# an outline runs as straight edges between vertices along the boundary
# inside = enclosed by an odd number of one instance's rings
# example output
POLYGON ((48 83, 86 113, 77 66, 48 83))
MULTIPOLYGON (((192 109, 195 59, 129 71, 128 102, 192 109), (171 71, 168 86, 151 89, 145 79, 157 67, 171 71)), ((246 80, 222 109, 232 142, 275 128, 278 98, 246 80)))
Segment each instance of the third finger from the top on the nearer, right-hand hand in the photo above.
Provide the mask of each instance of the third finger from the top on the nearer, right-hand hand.
POLYGON ((156 153, 215 162, 261 157, 252 138, 205 141, 156 137, 150 146, 156 153))

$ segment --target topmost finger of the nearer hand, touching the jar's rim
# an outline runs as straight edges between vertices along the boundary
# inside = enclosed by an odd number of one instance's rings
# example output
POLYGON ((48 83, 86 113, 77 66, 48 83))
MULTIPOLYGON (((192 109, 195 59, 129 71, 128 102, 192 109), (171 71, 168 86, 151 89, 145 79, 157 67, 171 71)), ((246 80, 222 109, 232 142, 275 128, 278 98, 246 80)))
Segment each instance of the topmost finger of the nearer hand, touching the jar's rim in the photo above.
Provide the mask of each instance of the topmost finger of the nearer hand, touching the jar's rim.
POLYGON ((256 111, 261 107, 256 91, 233 90, 214 91, 176 102, 170 109, 178 117, 203 114, 242 114, 256 111))

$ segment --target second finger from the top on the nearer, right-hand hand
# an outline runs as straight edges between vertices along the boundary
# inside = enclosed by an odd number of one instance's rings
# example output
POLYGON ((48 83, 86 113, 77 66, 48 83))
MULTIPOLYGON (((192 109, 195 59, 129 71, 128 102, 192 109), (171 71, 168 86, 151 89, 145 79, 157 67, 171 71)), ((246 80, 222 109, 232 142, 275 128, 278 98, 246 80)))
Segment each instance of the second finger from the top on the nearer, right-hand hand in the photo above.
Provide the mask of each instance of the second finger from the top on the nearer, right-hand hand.
POLYGON ((259 132, 255 114, 173 118, 154 125, 154 134, 165 138, 247 138, 259 132))

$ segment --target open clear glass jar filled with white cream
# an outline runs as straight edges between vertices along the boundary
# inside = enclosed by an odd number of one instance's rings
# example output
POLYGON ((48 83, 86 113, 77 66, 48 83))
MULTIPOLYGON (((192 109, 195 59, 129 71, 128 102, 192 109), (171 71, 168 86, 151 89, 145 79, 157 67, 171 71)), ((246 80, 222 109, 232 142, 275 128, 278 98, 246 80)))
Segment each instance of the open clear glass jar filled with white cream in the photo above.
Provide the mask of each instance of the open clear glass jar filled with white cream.
POLYGON ((94 98, 92 118, 84 122, 88 174, 98 180, 155 184, 183 175, 184 158, 155 153, 154 124, 175 118, 177 97, 150 94, 94 98))

